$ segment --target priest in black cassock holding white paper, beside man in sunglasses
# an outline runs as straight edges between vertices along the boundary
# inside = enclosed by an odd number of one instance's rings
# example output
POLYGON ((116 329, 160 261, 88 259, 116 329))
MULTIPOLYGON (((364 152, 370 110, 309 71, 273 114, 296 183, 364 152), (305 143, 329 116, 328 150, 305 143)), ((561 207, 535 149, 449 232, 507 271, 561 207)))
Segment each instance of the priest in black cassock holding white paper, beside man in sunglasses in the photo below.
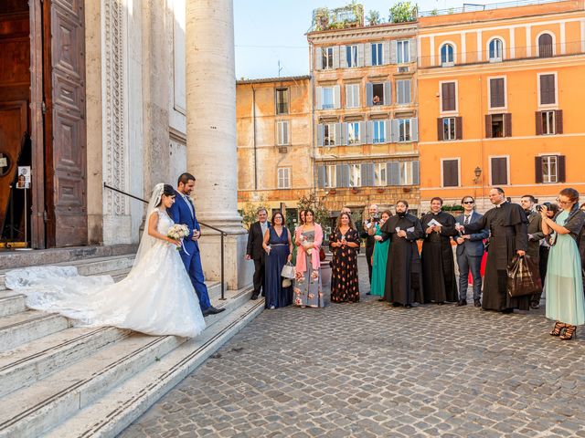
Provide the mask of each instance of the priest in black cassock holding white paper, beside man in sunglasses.
POLYGON ((441 208, 442 199, 432 198, 431 213, 420 220, 425 234, 420 253, 425 303, 443 304, 458 299, 451 245, 451 237, 457 235, 455 218, 441 212, 441 208))

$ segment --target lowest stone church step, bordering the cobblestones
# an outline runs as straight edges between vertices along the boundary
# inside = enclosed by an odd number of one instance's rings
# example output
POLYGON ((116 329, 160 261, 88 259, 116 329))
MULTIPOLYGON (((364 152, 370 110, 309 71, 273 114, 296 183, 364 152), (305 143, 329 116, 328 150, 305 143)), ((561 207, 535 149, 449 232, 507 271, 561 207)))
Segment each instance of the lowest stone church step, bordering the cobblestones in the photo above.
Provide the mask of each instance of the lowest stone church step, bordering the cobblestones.
POLYGON ((263 309, 263 299, 249 301, 222 323, 214 325, 213 330, 204 332, 200 339, 187 341, 171 351, 133 379, 105 394, 100 401, 58 425, 47 436, 115 437, 188 374, 197 370, 241 328, 260 315, 263 309), (140 391, 133 391, 136 386, 141 388, 140 391), (115 406, 113 410, 112 405, 115 406))

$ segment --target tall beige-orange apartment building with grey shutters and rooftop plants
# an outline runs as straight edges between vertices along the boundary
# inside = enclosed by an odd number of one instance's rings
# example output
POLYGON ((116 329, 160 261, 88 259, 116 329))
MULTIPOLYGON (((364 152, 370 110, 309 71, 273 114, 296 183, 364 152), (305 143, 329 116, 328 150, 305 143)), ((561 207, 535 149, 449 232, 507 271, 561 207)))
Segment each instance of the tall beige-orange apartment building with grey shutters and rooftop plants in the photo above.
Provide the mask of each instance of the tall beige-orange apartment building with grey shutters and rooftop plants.
MULTIPOLYGON (((317 27, 319 28, 319 27, 317 27)), ((307 34, 314 93, 317 193, 327 208, 420 199, 417 24, 307 34)))

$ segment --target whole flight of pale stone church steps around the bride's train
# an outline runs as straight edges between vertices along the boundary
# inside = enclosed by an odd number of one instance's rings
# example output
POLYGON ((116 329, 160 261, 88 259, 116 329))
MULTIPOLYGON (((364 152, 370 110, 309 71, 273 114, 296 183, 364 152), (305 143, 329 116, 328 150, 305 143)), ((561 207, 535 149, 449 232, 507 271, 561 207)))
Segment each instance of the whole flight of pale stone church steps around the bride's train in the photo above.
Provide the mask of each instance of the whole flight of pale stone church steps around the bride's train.
MULTIPOLYGON (((62 262, 81 275, 125 277, 133 255, 62 262)), ((115 436, 255 318, 251 288, 207 282, 211 303, 197 339, 154 337, 120 328, 74 328, 68 318, 26 308, 0 271, 0 437, 115 436), (83 431, 77 433, 76 431, 83 431)))

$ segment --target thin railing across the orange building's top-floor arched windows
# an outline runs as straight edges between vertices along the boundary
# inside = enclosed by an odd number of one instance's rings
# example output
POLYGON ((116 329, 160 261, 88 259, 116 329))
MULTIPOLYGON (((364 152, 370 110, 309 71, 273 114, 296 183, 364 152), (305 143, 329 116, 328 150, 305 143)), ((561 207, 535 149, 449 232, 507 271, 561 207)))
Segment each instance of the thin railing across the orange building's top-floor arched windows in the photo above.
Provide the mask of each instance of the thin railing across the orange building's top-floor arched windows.
POLYGON ((500 64, 523 59, 567 57, 585 53, 584 41, 569 41, 551 45, 528 47, 505 47, 501 52, 490 53, 490 50, 454 52, 452 57, 441 57, 441 47, 435 48, 437 54, 419 57, 419 68, 449 68, 473 64, 500 64), (491 55, 491 56, 490 56, 491 55))

